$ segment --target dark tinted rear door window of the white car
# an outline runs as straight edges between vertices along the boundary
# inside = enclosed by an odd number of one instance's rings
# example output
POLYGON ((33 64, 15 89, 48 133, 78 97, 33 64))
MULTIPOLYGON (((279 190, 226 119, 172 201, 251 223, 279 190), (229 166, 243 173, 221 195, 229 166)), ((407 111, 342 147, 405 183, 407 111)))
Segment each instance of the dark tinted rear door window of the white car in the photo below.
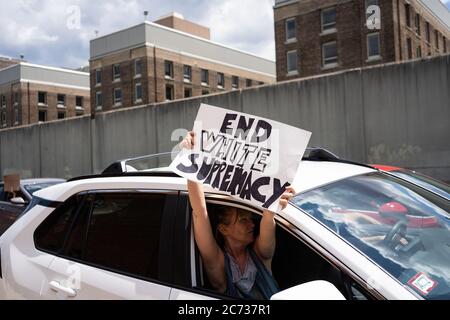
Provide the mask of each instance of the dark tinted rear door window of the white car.
POLYGON ((77 218, 67 241, 67 255, 113 271, 157 279, 165 200, 164 194, 145 192, 97 193, 92 206, 85 205, 77 218))

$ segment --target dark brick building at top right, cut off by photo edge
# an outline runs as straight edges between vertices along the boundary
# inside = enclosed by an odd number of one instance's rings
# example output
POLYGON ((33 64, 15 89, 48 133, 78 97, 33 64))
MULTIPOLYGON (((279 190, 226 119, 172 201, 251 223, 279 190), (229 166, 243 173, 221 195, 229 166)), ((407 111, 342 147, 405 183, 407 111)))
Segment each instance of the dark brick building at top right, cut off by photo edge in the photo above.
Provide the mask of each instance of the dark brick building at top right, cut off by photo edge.
POLYGON ((275 0, 274 23, 277 81, 450 51, 439 0, 275 0))

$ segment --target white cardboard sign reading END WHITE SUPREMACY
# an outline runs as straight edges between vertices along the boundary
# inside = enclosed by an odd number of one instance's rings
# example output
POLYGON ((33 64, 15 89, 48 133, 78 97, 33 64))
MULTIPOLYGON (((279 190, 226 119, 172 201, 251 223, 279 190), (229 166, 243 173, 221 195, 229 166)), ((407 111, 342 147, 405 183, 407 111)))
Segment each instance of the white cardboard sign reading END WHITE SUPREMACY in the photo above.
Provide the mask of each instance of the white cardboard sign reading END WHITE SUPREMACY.
POLYGON ((311 133, 277 121, 202 104, 195 145, 170 168, 188 180, 277 212, 311 133))

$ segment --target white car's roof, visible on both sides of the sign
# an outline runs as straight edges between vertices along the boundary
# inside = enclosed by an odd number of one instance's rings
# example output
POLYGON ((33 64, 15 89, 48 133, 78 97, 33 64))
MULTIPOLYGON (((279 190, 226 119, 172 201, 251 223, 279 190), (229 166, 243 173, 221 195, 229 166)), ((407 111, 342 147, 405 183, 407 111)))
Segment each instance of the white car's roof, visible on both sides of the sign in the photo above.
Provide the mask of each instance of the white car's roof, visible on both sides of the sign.
MULTIPOLYGON (((301 161, 292 185, 297 193, 301 193, 334 181, 376 171, 370 167, 349 163, 301 161)), ((160 190, 187 190, 185 178, 173 172, 153 170, 74 179, 37 191, 35 196, 64 201, 72 194, 85 190, 148 189, 150 186, 160 190)), ((209 186, 205 186, 205 192, 221 194, 209 186)))

